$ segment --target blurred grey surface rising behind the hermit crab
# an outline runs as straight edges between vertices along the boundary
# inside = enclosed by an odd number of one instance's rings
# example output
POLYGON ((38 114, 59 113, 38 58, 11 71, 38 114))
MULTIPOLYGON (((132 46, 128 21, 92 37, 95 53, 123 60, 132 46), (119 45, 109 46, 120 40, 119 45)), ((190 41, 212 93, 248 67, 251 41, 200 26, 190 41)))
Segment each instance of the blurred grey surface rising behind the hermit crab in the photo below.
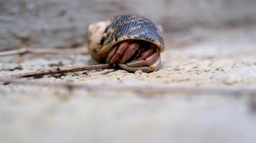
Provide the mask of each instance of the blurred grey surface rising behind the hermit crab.
POLYGON ((65 48, 86 42, 89 24, 141 14, 165 32, 255 24, 255 0, 0 0, 0 50, 65 48))

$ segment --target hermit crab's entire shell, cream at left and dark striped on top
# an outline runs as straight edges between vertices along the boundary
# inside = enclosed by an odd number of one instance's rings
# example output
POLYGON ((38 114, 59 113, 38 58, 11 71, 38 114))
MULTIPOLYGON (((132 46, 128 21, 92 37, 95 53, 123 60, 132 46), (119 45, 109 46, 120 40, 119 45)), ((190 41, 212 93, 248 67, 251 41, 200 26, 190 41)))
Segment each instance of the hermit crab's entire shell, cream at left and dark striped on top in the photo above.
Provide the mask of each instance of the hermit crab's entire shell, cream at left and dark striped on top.
POLYGON ((136 14, 122 14, 89 26, 88 52, 96 61, 104 62, 115 44, 135 39, 148 41, 164 51, 160 29, 152 21, 136 14))

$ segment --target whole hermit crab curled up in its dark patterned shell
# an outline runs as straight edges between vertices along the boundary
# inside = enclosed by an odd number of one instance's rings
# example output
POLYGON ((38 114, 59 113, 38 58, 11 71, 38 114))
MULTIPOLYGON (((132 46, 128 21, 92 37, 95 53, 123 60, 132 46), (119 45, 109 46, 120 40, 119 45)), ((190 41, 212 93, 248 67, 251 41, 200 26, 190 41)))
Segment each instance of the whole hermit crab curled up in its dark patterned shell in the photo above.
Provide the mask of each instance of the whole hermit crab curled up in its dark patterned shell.
POLYGON ((127 71, 156 71, 163 50, 160 29, 136 14, 122 14, 88 27, 88 52, 100 63, 127 71))

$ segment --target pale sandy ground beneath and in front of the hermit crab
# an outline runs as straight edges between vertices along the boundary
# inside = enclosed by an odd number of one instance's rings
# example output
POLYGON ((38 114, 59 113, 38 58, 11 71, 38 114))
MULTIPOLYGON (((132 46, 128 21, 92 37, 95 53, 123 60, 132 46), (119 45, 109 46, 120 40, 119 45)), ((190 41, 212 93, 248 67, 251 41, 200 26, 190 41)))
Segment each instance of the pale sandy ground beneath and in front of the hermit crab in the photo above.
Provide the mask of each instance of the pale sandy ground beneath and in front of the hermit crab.
MULTIPOLYGON (((1 84, 0 142, 255 142, 255 39, 254 25, 195 27, 165 34, 163 67, 150 74, 29 79, 142 90, 1 84)), ((0 74, 94 63, 88 55, 9 56, 0 74)))

